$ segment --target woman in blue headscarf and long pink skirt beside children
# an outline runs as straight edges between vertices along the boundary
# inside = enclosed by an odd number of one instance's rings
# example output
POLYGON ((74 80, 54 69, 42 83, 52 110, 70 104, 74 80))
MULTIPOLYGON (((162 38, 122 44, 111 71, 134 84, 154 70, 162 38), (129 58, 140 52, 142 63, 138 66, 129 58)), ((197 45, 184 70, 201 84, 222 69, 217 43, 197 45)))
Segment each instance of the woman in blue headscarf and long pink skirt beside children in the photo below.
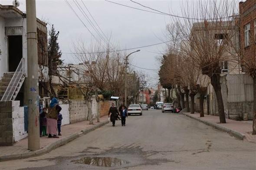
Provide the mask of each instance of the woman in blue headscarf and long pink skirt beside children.
POLYGON ((61 111, 61 107, 58 105, 58 99, 53 98, 49 108, 48 108, 48 114, 47 114, 47 134, 48 137, 54 137, 59 138, 57 136, 57 119, 58 119, 58 113, 61 111))

